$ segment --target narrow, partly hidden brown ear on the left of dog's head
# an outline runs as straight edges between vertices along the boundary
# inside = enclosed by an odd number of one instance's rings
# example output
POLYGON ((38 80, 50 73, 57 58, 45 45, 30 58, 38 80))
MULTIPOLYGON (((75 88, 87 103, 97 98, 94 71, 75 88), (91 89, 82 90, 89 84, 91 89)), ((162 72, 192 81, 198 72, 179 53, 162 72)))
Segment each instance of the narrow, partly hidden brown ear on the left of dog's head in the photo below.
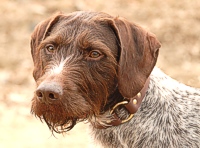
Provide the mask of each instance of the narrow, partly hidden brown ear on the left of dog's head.
POLYGON ((33 76, 36 79, 38 79, 41 76, 42 65, 41 64, 41 58, 40 58, 40 51, 38 50, 38 46, 40 43, 45 39, 46 36, 48 36, 48 33, 51 31, 51 28, 55 23, 58 22, 61 14, 56 14, 53 17, 50 17, 42 22, 40 22, 34 29, 32 35, 31 35, 31 54, 34 62, 34 71, 33 76), (40 68, 40 69, 39 69, 40 68))

